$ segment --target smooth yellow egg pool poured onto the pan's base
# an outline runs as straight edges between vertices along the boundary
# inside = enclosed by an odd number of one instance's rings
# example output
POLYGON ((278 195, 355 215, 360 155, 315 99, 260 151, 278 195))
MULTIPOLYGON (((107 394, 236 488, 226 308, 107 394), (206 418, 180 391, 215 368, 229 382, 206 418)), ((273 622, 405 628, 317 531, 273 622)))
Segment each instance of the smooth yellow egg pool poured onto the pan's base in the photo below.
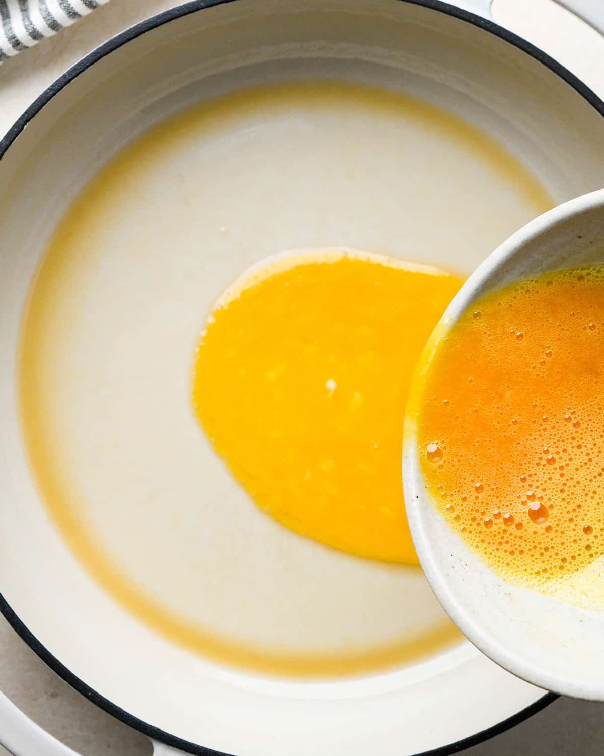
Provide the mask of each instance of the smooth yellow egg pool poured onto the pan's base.
POLYGON ((239 281, 211 315, 193 401, 217 451, 279 522, 417 565, 400 474, 414 364, 461 281, 359 253, 309 253, 239 281))

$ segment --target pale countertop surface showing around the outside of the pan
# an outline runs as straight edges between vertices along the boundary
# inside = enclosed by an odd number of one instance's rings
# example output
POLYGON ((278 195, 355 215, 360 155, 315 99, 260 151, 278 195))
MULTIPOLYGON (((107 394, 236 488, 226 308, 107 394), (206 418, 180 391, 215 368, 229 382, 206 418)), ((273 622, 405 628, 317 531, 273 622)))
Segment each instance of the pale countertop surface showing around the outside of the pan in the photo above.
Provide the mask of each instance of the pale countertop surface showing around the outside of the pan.
MULTIPOLYGON (((83 54, 127 26, 174 5, 170 0, 112 0, 60 35, 9 60, 0 67, 0 134, 83 54)), ((495 16, 557 57, 604 98, 604 39, 593 30, 553 7, 550 0, 495 0, 495 16)), ((1 618, 0 689, 82 756, 151 753, 145 737, 55 677, 1 618)), ((602 743, 604 705, 559 699, 513 730, 466 752, 468 756, 599 756, 602 743)), ((0 756, 5 753, 0 748, 0 756)))

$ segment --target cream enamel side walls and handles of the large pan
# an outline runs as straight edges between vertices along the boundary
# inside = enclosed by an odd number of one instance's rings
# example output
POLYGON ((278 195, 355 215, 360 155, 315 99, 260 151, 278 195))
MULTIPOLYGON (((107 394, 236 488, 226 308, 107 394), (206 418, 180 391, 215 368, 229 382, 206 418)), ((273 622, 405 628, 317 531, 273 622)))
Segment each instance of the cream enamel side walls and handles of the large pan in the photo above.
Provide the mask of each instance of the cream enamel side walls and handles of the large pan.
MULTIPOLYGON (((20 314, 49 232, 119 144, 194 101, 293 71, 384 82, 482 125, 557 202, 601 187, 604 103, 493 23, 489 0, 460 5, 196 0, 85 57, 0 142, 0 608, 57 674, 146 733, 155 754, 448 754, 553 700, 470 643, 331 682, 236 674, 174 648, 109 600, 66 550, 35 493, 17 423, 20 314)), ((598 0, 567 5, 602 26, 598 0)), ((2 697, 0 740, 17 756, 72 753, 2 697)))

